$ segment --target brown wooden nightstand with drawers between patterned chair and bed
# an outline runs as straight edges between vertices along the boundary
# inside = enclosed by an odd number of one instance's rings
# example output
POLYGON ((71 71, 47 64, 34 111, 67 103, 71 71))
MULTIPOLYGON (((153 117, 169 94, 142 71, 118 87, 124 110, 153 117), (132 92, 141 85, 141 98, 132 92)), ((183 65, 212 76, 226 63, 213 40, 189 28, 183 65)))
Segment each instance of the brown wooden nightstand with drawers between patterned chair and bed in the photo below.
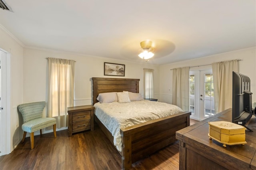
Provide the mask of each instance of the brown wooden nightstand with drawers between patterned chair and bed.
POLYGON ((68 136, 89 129, 94 130, 94 107, 92 105, 68 107, 68 136))

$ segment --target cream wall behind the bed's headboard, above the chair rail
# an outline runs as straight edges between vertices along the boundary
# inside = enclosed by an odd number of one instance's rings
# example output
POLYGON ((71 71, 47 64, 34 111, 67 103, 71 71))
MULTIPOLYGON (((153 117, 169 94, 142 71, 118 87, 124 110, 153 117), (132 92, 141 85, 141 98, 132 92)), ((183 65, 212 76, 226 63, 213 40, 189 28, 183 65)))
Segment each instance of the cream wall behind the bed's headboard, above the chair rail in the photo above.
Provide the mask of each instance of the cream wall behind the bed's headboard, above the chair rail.
POLYGON ((46 100, 46 57, 75 60, 75 106, 91 105, 92 77, 134 78, 140 79, 140 93, 143 95, 143 68, 154 69, 154 94, 159 93, 159 66, 148 63, 132 63, 128 61, 107 59, 63 51, 42 49, 24 49, 24 103, 46 100), (104 76, 104 62, 125 64, 125 77, 104 76))

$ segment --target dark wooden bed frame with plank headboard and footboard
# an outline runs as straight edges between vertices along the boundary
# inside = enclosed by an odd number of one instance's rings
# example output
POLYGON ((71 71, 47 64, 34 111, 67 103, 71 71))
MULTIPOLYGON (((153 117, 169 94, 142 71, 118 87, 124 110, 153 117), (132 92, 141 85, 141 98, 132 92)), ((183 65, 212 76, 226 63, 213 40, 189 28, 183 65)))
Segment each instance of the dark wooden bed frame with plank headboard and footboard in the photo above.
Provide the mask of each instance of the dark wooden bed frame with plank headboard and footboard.
MULTIPOLYGON (((100 93, 130 91, 139 93, 140 79, 92 77, 92 100, 97 103, 100 93)), ((153 102, 153 101, 152 101, 153 102)), ((176 141, 176 131, 190 125, 191 112, 185 111, 126 128, 120 128, 122 169, 132 168, 132 163, 168 146, 176 141)), ((94 115, 94 120, 114 145, 114 137, 94 115)), ((116 148, 116 147, 115 147, 116 148)))

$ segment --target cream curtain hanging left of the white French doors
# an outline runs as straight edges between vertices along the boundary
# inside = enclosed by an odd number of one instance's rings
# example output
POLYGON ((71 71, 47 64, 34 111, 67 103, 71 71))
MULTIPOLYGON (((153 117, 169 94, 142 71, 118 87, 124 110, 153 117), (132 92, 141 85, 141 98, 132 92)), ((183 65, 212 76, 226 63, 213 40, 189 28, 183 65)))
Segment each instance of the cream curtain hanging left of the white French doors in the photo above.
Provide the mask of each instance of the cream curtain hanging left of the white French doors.
POLYGON ((189 111, 189 67, 172 70, 172 104, 189 111))

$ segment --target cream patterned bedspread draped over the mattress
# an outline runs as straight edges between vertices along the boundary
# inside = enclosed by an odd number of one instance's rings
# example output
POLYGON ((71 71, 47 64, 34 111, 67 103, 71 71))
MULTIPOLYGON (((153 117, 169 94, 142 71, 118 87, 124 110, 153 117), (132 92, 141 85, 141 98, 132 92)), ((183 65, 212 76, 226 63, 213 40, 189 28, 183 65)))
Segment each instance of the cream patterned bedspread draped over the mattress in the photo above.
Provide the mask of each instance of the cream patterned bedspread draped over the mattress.
POLYGON ((122 151, 120 128, 159 119, 182 112, 176 105, 156 101, 132 101, 130 103, 95 103, 95 115, 114 136, 114 145, 122 151))

